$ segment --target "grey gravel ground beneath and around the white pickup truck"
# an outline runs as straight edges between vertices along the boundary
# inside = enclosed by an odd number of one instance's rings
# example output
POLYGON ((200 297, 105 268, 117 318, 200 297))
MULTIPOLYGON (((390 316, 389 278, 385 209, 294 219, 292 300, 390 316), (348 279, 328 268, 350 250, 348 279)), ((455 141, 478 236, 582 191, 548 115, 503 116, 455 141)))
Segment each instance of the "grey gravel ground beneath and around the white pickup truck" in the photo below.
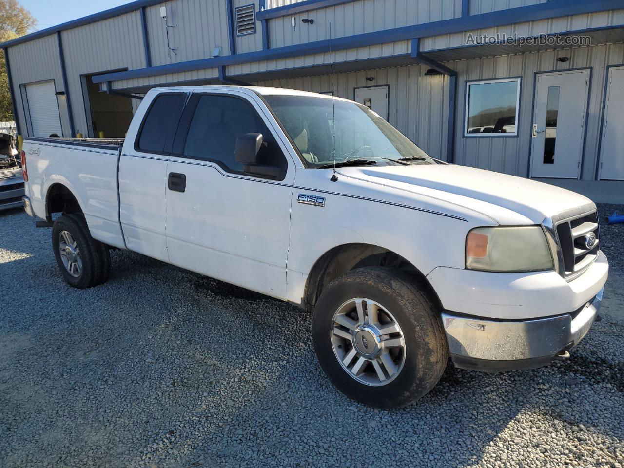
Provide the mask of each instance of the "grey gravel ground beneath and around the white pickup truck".
POLYGON ((622 227, 603 228, 619 275, 570 361, 449 366, 379 411, 325 378, 310 313, 126 251, 74 290, 49 230, 0 213, 0 466, 621 468, 622 227))

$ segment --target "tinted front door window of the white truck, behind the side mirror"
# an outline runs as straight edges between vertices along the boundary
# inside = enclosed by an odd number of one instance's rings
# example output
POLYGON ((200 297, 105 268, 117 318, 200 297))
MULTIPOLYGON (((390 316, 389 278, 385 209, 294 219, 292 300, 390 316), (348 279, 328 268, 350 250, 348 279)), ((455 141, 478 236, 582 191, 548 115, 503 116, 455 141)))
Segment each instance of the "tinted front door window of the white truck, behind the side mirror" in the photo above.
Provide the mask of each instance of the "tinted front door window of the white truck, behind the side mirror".
POLYGON ((233 96, 200 97, 188 129, 184 155, 216 162, 228 172, 243 173, 243 165, 234 158, 234 149, 236 138, 246 133, 262 134, 259 163, 286 167, 286 158, 260 115, 248 102, 233 96))

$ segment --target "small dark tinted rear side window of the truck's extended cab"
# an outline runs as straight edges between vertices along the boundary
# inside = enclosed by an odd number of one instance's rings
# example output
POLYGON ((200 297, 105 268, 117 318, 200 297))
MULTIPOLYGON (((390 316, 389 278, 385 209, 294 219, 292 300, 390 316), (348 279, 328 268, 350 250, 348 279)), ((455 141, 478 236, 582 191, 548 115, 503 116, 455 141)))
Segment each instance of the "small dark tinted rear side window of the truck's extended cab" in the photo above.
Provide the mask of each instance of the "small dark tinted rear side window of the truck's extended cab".
POLYGON ((145 114, 137 150, 150 153, 170 150, 165 145, 173 141, 173 133, 180 121, 185 98, 185 94, 161 94, 154 99, 145 114))

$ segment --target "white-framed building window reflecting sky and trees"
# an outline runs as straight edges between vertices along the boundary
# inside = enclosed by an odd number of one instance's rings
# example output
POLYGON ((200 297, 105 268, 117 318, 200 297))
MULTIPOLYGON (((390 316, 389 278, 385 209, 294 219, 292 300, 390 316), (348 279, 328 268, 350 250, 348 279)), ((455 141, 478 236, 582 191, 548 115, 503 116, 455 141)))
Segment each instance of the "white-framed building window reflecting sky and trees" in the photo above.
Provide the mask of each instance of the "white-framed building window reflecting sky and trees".
POLYGON ((520 78, 466 83, 465 137, 518 135, 520 78))

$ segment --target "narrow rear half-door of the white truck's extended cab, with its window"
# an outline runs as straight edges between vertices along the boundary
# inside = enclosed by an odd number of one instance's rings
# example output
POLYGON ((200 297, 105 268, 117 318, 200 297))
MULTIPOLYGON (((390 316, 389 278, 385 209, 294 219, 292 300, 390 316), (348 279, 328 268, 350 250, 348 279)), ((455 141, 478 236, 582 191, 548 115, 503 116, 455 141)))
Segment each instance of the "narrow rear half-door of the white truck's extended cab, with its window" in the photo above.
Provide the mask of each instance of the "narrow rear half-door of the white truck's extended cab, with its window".
POLYGON ((143 119, 139 109, 128 132, 137 138, 124 142, 119 162, 119 218, 125 243, 130 250, 162 261, 169 261, 167 161, 187 96, 183 92, 158 94, 143 119))

